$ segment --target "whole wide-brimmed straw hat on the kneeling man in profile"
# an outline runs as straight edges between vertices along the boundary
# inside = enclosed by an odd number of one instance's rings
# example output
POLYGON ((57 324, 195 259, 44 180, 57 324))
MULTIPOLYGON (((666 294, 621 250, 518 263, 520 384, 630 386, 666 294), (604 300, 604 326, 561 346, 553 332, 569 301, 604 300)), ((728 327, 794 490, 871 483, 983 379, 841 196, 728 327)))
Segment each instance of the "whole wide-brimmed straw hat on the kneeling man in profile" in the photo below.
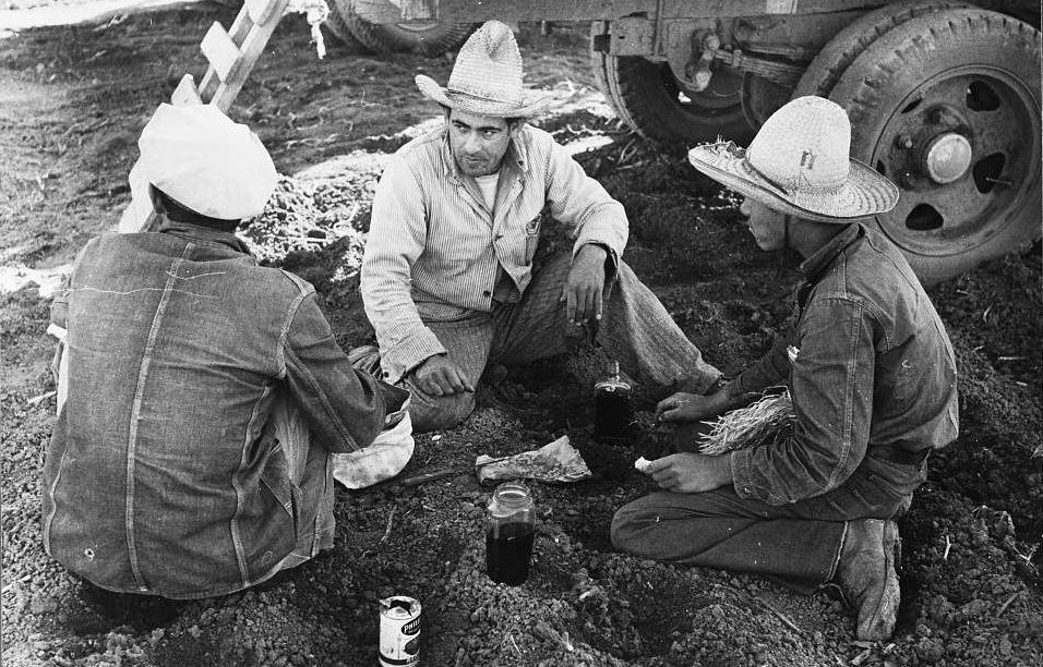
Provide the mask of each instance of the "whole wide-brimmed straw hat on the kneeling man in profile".
POLYGON ((783 214, 850 222, 887 213, 898 187, 849 156, 848 113, 822 97, 799 97, 765 121, 745 150, 731 142, 688 151, 692 166, 783 214))

